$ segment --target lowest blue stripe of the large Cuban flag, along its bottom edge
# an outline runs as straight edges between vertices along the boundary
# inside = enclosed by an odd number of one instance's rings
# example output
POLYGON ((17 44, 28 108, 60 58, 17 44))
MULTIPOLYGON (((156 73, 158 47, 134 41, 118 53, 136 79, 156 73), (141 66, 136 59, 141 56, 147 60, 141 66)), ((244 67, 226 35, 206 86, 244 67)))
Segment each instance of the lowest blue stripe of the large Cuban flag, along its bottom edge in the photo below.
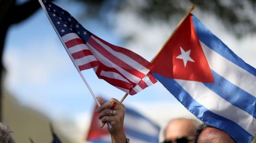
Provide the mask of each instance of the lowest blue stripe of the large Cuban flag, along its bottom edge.
POLYGON ((192 112, 204 123, 219 128, 227 132, 238 143, 251 143, 254 136, 246 132, 241 126, 230 121, 218 114, 209 111, 202 104, 194 100, 174 79, 168 79, 164 76, 153 73, 154 77, 163 84, 163 86, 171 92, 178 101, 180 101, 187 110, 192 112), (248 138, 244 138, 247 136, 248 138))

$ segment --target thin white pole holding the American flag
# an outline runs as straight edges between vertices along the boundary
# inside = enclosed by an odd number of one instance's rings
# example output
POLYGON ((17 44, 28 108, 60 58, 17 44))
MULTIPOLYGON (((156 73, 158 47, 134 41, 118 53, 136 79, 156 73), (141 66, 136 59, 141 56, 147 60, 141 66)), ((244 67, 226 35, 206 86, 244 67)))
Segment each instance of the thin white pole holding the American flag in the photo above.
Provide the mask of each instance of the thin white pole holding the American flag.
MULTIPOLYGON (((58 33, 58 31, 57 31, 55 25, 53 24, 53 21, 51 20, 51 18, 50 18, 50 16, 49 16, 48 12, 47 12, 47 10, 46 10, 46 7, 45 7, 43 1, 42 1, 42 0, 38 0, 38 1, 39 1, 39 3, 41 4, 41 7, 43 8, 43 10, 45 11, 45 13, 46 13, 46 15, 47 15, 47 18, 49 19, 50 23, 52 24, 53 29, 54 29, 55 32, 57 33, 59 40, 61 41, 61 43, 62 43, 62 45, 64 46, 65 50, 67 51, 68 55, 70 56, 70 59, 71 59, 71 61, 73 62, 74 66, 76 67, 78 73, 80 74, 80 76, 81 76, 83 82, 85 83, 85 85, 86 85, 86 87, 88 88, 88 90, 91 92, 94 101, 95 101, 96 104, 100 107, 100 106, 101 106, 100 102, 97 100, 95 94, 93 93, 93 90, 91 89, 91 87, 90 87, 90 85, 88 84, 88 82, 85 80, 84 76, 83 76, 82 73, 81 73, 81 70, 78 68, 76 62, 74 61, 73 57, 71 56, 71 54, 70 54, 70 52, 69 52, 69 50, 68 50, 68 47, 66 46, 65 42, 63 41, 63 39, 62 39, 61 36, 59 35, 59 33, 58 33)), ((109 128, 112 128, 112 126, 111 126, 110 123, 107 123, 107 125, 109 126, 109 128)))

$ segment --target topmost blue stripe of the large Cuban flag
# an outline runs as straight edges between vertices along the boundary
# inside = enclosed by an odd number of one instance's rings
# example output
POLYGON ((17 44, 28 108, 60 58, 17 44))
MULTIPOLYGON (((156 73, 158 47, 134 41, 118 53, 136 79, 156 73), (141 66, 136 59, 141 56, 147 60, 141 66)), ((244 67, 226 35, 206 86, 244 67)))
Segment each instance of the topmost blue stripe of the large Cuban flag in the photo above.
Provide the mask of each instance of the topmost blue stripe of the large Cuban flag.
POLYGON ((212 34, 211 31, 209 31, 194 15, 193 24, 198 35, 198 39, 201 42, 203 42, 210 49, 216 51, 229 61, 232 61, 234 64, 256 76, 256 70, 252 66, 245 63, 233 51, 231 51, 218 37, 212 34))

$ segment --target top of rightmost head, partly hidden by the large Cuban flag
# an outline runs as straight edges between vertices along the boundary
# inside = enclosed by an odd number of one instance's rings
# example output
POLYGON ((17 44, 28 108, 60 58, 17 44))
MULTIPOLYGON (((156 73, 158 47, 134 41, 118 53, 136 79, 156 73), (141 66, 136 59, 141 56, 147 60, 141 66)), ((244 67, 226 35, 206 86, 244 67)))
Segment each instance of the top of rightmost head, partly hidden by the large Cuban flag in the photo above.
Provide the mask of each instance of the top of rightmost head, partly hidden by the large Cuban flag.
POLYGON ((235 143, 224 131, 208 126, 199 135, 197 143, 235 143))

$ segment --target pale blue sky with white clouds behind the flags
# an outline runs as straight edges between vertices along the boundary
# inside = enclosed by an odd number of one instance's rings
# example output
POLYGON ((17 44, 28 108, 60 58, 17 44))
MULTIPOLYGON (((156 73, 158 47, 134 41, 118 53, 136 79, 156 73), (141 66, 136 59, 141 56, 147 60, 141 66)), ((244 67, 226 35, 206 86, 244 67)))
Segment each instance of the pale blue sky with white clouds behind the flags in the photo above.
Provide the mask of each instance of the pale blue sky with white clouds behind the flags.
MULTIPOLYGON (((55 3, 75 18, 81 16, 80 10, 84 8, 71 0, 57 0, 55 3)), ((256 67, 256 35, 238 40, 217 17, 197 9, 193 13, 238 56, 256 67)), ((113 29, 97 20, 77 20, 105 41, 128 48, 151 61, 180 19, 149 23, 141 20, 135 12, 123 10, 116 14, 113 29), (135 40, 125 42, 122 37, 126 35, 134 35, 135 40)), ((7 69, 5 87, 21 104, 42 112, 52 121, 74 124, 78 131, 74 138, 86 132, 94 106, 92 95, 42 9, 10 28, 4 50, 4 66, 7 69)), ((118 100, 124 96, 124 92, 99 80, 93 70, 82 73, 97 96, 118 100)), ((128 96, 124 104, 133 106, 161 127, 174 117, 195 118, 159 82, 134 96, 128 96)), ((65 127, 59 129, 63 133, 69 132, 65 127)))

